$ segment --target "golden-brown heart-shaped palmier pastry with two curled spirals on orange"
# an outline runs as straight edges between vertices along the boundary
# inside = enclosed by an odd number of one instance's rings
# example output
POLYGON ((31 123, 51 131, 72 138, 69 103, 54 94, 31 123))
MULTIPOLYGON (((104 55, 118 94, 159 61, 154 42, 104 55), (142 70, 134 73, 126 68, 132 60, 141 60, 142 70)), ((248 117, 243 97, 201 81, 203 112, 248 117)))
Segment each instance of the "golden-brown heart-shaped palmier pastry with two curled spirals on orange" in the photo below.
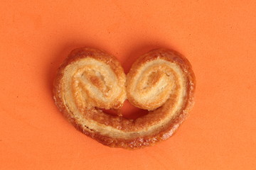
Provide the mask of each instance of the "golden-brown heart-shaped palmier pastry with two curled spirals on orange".
POLYGON ((58 69, 53 94, 59 110, 85 135, 109 147, 136 149, 173 135, 193 106, 195 86, 191 64, 174 50, 151 50, 126 76, 112 55, 80 48, 58 69), (104 113, 122 108, 126 99, 149 113, 135 120, 104 113))

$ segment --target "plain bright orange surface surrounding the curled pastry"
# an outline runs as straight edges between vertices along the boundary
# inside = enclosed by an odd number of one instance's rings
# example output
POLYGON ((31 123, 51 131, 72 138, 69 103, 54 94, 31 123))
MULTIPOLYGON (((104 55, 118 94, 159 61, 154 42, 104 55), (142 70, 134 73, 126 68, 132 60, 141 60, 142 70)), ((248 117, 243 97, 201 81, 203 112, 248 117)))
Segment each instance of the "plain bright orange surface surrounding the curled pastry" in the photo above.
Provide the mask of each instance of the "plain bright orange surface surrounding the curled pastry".
POLYGON ((256 169, 255 13, 255 0, 1 0, 0 169, 256 169), (115 55, 125 72, 155 47, 185 55, 196 105, 178 132, 128 151, 75 130, 51 90, 83 46, 115 55))

